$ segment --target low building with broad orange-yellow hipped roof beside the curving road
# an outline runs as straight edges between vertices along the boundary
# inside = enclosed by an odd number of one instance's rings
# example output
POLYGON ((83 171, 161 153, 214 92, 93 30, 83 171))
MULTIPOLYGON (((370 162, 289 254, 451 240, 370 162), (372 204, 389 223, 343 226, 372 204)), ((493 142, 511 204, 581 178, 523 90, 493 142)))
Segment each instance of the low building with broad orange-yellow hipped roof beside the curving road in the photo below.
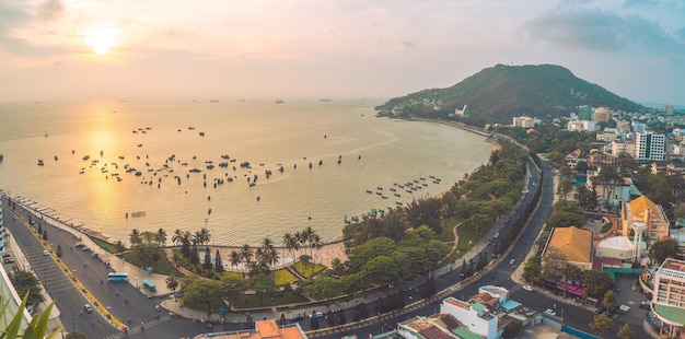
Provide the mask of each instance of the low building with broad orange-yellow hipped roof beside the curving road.
POLYGON ((543 250, 543 270, 560 271, 567 265, 592 269, 592 231, 576 226, 552 231, 543 250))

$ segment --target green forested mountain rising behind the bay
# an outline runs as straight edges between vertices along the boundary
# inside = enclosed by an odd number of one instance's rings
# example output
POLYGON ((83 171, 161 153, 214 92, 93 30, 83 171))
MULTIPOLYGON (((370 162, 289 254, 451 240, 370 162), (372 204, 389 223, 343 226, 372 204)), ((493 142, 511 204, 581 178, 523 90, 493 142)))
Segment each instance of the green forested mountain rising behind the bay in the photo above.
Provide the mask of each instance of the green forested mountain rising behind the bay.
POLYGON ((521 115, 567 115, 577 112, 580 105, 626 112, 645 108, 556 65, 496 65, 451 87, 422 90, 392 98, 375 108, 379 115, 438 118, 464 105, 468 105, 471 119, 507 124, 521 115))

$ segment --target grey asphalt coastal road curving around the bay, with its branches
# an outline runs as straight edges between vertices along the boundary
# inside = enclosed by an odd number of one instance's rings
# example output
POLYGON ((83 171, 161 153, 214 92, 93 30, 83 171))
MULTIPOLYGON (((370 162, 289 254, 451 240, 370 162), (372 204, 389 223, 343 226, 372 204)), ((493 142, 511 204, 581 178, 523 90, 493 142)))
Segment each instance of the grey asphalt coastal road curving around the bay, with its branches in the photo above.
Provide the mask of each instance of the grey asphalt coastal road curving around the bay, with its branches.
MULTIPOLYGON (((488 256, 492 253, 495 242, 492 238, 495 232, 500 233, 500 238, 504 237, 511 230, 511 224, 515 218, 523 214, 525 207, 531 202, 534 191, 536 189, 535 183, 539 182, 539 172, 535 168, 532 162, 529 161, 529 171, 531 178, 529 180, 527 194, 524 195, 523 201, 516 206, 516 208, 510 214, 510 220, 506 222, 501 229, 492 230, 486 238, 481 239, 480 248, 478 250, 485 252, 488 256)), ((542 198, 541 202, 535 209, 533 215, 527 221, 525 227, 522 230, 521 235, 515 242, 514 246, 506 254, 506 256, 492 268, 492 270, 480 277, 479 279, 464 285, 458 291, 451 295, 457 299, 465 299, 477 293, 479 287, 485 284, 501 285, 510 290, 512 300, 523 302, 524 306, 544 312, 547 308, 554 308, 558 315, 564 316, 566 325, 578 328, 584 331, 591 331, 588 324, 592 322, 594 316, 591 312, 583 307, 573 304, 560 303, 555 299, 552 299, 537 291, 527 292, 521 289, 521 287, 510 280, 510 277, 515 269, 515 266, 521 264, 530 252, 537 234, 544 222, 549 218, 553 210, 554 201, 554 184, 553 173, 544 165, 542 168, 545 172, 542 198), (510 264, 510 260, 514 259, 514 265, 510 264)), ((5 202, 5 201, 3 201, 5 202)), ((5 204, 7 207, 7 204, 5 204)), ((5 208, 5 214, 10 214, 11 209, 5 208)), ((43 246, 34 234, 24 224, 27 222, 28 212, 20 209, 18 211, 19 217, 16 221, 5 218, 5 225, 12 232, 12 236, 15 242, 24 249, 27 259, 31 261, 35 273, 43 281, 46 290, 56 301, 57 307, 61 312, 61 319, 68 330, 78 330, 88 334, 88 338, 124 338, 124 334, 118 329, 109 325, 106 319, 100 316, 98 313, 93 312, 84 313, 83 305, 88 302, 83 294, 78 291, 76 285, 69 281, 66 273, 62 272, 57 264, 53 260, 51 256, 43 255, 43 246)), ((169 314, 158 313, 154 305, 159 302, 155 299, 148 299, 139 290, 129 283, 114 283, 107 282, 107 267, 105 264, 100 262, 95 258, 91 257, 90 252, 83 252, 78 248, 71 249, 79 241, 71 233, 59 231, 58 229, 46 226, 48 231, 48 243, 53 244, 56 248, 57 245, 62 247, 62 260, 63 262, 74 271, 76 277, 83 283, 85 289, 90 291, 96 300, 103 305, 111 307, 112 315, 120 320, 131 318, 131 326, 129 335, 131 338, 183 338, 193 337, 197 334, 210 331, 204 324, 196 322, 172 318, 169 314), (101 281, 103 283, 101 284, 101 281), (128 303, 125 303, 128 301, 128 303), (159 318, 156 317, 159 315, 159 318), (140 325, 144 324, 146 331, 140 330, 140 325), (162 325, 162 326, 160 326, 162 325)), ((444 276, 438 277, 436 284, 438 290, 448 289, 454 285, 461 280, 458 267, 448 272, 444 276)), ((405 289, 414 289, 419 282, 415 282, 411 285, 404 287, 405 289)), ((411 293, 407 293, 411 295, 411 293)), ((416 296, 416 293, 414 294, 416 296)), ((413 301, 407 300, 407 304, 413 301)), ((351 304, 351 303, 348 303, 351 304)), ((440 301, 427 303, 421 307, 413 309, 407 313, 403 313, 393 318, 386 318, 382 322, 360 327, 355 330, 342 330, 318 336, 321 338, 339 338, 345 335, 368 336, 369 334, 380 334, 383 331, 382 326, 388 325, 394 327, 394 324, 405 320, 416 315, 430 315, 439 309, 440 301)), ((374 309, 373 303, 368 304, 369 309, 374 309)), ((637 309, 637 307, 634 307, 637 309)), ((352 319, 353 309, 346 311, 347 319, 352 319)), ((615 320, 614 328, 611 332, 616 332, 618 326, 627 322, 638 334, 641 334, 641 318, 639 314, 637 316, 618 318, 615 320)), ((326 322, 320 322, 322 327, 325 327, 326 322)), ((309 329, 309 320, 301 322, 303 329, 309 329)), ((213 331, 230 331, 243 329, 244 324, 223 324, 216 325, 211 330, 213 331)))

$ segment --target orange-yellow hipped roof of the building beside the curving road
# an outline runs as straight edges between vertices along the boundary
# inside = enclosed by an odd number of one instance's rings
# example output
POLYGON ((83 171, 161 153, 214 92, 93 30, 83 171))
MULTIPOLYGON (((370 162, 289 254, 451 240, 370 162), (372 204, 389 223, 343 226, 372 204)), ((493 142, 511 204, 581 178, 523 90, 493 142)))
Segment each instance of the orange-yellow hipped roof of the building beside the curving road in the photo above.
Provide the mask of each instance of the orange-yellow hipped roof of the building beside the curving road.
POLYGON ((568 261, 590 262, 592 232, 576 226, 556 227, 548 246, 558 249, 568 261))

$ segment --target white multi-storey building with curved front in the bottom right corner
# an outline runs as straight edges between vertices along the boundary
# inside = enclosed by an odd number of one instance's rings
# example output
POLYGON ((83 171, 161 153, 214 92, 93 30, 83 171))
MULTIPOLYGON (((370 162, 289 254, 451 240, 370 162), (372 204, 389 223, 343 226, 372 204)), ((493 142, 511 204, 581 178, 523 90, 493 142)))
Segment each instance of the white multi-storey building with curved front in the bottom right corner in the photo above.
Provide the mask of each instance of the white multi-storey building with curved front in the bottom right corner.
POLYGON ((661 334, 676 337, 685 325, 685 261, 667 258, 657 270, 651 311, 661 334))

